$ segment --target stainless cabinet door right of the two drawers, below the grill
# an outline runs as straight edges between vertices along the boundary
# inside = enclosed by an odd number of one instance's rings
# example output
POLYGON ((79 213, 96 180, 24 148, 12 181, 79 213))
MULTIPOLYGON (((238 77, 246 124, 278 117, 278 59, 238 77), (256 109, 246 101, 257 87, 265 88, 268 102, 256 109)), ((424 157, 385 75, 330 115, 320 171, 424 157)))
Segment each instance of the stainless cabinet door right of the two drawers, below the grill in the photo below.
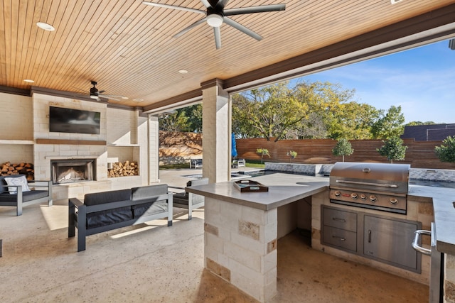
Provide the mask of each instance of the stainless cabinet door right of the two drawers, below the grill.
POLYGON ((364 227, 364 255, 417 270, 417 251, 411 245, 417 223, 365 215, 364 227))

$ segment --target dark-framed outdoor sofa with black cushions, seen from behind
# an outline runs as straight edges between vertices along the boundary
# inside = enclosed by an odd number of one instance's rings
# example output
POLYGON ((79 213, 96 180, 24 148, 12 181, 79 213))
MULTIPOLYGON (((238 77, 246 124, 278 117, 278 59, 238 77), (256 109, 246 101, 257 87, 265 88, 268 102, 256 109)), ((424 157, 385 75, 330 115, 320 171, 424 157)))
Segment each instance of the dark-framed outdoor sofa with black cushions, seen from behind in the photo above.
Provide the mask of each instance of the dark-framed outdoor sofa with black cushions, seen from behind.
POLYGON ((75 236, 77 251, 85 250, 85 237, 112 229, 168 219, 172 225, 172 193, 167 184, 85 194, 84 202, 69 199, 68 238, 75 236))

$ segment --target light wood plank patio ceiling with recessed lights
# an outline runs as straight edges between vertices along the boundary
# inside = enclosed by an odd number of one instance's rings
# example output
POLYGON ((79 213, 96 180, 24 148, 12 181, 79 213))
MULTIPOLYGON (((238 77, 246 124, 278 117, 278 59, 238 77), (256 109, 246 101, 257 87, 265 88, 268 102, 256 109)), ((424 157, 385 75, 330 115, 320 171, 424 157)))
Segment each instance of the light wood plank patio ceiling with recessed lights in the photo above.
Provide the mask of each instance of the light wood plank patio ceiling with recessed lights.
MULTIPOLYGON (((155 2, 205 11, 200 0, 155 2)), ((172 37, 201 18, 189 11, 140 0, 0 0, 0 86, 88 94, 95 80, 105 94, 128 97, 109 103, 150 107, 210 79, 237 77, 455 1, 231 0, 226 9, 282 3, 286 11, 231 17, 263 40, 223 24, 216 50, 206 23, 172 37)))

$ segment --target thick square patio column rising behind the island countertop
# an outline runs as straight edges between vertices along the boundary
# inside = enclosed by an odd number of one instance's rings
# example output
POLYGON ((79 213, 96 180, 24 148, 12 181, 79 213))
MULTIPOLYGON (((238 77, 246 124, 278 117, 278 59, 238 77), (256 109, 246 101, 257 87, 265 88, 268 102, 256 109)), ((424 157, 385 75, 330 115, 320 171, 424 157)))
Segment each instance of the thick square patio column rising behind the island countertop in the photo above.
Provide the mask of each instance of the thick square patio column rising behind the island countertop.
POLYGON ((203 177, 210 183, 230 180, 231 106, 223 80, 201 83, 203 177))

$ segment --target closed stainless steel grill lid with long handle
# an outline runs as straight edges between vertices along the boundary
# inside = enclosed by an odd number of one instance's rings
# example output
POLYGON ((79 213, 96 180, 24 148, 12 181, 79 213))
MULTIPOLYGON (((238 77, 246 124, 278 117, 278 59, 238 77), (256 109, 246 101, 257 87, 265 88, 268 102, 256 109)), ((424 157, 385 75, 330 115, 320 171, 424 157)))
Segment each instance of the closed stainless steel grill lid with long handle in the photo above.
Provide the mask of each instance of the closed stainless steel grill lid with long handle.
POLYGON ((330 173, 330 187, 407 194, 410 168, 409 164, 336 162, 330 173))

